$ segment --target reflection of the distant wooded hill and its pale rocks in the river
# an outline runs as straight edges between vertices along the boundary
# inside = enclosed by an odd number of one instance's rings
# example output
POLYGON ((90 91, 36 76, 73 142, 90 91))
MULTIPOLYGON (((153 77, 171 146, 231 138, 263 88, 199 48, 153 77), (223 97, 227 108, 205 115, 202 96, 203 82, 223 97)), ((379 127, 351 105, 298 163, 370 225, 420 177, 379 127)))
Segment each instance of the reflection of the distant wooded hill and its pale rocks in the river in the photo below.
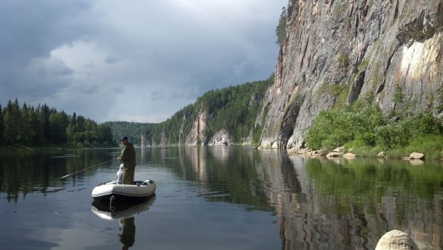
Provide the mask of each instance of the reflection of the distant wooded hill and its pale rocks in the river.
POLYGON ((208 190, 201 195, 207 201, 269 211, 265 180, 255 169, 255 163, 261 161, 260 152, 244 149, 230 146, 182 148, 181 172, 185 179, 196 181, 208 190))

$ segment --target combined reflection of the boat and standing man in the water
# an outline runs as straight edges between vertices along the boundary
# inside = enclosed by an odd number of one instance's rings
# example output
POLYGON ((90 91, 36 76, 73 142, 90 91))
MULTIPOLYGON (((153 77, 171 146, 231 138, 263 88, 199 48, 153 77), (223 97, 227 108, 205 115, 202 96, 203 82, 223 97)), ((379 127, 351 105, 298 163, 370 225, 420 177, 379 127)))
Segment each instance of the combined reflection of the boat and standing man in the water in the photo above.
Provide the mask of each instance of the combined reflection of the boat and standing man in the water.
POLYGON ((103 220, 118 220, 121 231, 118 241, 123 245, 122 249, 128 249, 135 242, 135 216, 149 210, 154 201, 155 195, 145 202, 92 202, 91 210, 103 220))

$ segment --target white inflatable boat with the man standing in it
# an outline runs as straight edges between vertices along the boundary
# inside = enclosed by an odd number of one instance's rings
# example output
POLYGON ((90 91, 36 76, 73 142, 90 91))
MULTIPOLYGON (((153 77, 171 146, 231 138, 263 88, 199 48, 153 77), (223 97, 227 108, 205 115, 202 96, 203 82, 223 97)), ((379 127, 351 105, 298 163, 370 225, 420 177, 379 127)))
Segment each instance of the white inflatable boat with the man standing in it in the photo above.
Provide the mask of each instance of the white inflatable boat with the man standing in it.
POLYGON ((92 190, 92 197, 96 201, 109 200, 136 200, 147 199, 155 193, 155 182, 134 181, 134 185, 118 184, 117 181, 108 181, 99 184, 92 190))

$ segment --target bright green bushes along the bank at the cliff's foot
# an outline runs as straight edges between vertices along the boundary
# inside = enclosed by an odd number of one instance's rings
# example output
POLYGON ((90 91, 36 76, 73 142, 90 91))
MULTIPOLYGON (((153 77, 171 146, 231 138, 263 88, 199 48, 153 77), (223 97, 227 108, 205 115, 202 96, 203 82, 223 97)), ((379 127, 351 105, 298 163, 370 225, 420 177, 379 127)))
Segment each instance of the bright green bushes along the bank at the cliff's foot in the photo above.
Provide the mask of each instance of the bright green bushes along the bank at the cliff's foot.
POLYGON ((309 148, 346 148, 428 152, 443 150, 442 121, 430 113, 388 123, 379 107, 357 101, 340 110, 321 111, 306 136, 309 148))

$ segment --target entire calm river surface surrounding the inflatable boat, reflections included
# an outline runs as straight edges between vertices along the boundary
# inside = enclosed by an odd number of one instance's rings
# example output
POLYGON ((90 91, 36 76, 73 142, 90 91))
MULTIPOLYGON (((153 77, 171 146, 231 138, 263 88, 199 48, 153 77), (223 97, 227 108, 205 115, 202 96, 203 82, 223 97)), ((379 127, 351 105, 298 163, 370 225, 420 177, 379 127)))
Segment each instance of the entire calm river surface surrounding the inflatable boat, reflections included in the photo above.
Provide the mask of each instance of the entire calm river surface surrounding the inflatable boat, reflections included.
POLYGON ((399 229, 422 250, 443 249, 441 161, 136 152, 136 180, 156 181, 156 196, 112 207, 94 207, 91 190, 115 179, 120 148, 0 154, 0 248, 374 249, 399 229))

